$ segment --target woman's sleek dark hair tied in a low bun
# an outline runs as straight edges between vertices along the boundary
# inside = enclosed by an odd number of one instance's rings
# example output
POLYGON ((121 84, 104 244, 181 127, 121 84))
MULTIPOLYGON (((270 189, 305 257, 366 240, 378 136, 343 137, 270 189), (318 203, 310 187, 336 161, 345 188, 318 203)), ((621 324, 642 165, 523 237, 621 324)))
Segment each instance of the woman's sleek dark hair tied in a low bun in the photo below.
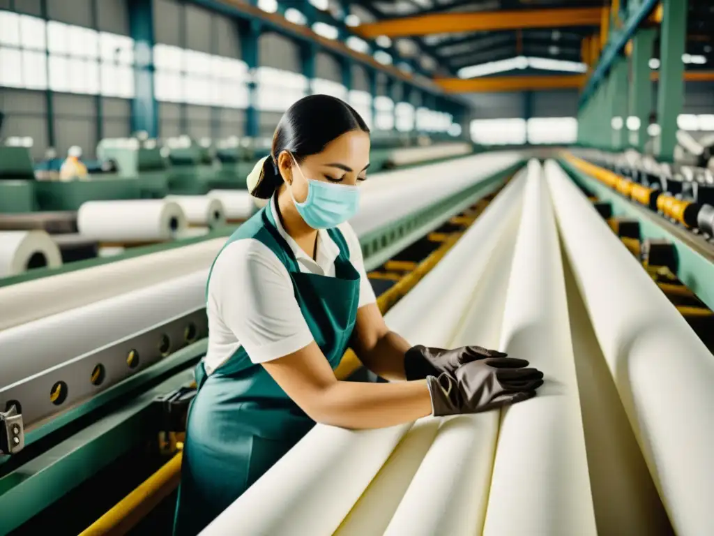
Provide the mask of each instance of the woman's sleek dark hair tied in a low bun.
POLYGON ((288 108, 273 134, 271 154, 263 162, 253 197, 270 199, 283 184, 278 157, 287 151, 298 164, 311 154, 318 154, 342 134, 353 130, 369 132, 367 124, 352 106, 329 95, 303 97, 288 108))

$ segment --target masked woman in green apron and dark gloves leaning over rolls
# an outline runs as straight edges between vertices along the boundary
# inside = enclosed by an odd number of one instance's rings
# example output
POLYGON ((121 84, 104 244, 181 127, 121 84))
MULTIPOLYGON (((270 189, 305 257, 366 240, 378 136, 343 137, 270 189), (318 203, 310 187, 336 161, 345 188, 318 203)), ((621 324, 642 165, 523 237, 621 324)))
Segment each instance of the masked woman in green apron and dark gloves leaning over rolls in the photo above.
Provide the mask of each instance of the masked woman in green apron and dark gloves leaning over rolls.
POLYGON ((365 429, 481 412, 532 397, 543 383, 522 359, 413 346, 387 327, 347 223, 369 151, 357 112, 313 95, 286 111, 258 163, 251 193, 268 204, 208 275, 208 349, 196 370, 174 535, 200 532, 315 422, 365 429), (338 381, 333 369, 348 346, 391 382, 338 381))

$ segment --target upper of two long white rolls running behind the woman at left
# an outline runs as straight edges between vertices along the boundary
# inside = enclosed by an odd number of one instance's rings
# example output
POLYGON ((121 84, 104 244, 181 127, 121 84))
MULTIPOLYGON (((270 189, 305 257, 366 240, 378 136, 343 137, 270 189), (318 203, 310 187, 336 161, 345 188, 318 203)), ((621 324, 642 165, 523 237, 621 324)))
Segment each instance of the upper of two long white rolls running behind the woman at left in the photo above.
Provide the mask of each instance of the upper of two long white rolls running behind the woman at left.
MULTIPOLYGON (((225 238, 0 287, 0 332, 211 267, 225 238)), ((180 292, 180 291, 179 291, 180 292)), ((147 307, 153 307, 151 303, 147 307)))

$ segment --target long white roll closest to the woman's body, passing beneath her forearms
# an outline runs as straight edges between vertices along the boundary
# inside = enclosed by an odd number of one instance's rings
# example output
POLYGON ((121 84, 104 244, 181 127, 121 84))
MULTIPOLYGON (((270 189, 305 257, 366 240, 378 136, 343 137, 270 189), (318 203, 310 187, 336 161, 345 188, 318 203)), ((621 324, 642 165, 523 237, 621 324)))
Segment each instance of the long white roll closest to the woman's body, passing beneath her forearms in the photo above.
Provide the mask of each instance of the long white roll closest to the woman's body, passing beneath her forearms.
MULTIPOLYGON (((391 329, 415 343, 450 342, 470 296, 453 282, 468 279, 471 289, 476 286, 505 228, 503 216, 520 194, 516 183, 496 197, 441 262, 389 310, 391 329), (475 252, 481 268, 472 263, 475 252), (460 303, 448 302, 447 294, 460 303)), ((351 432, 316 425, 201 534, 332 534, 410 427, 351 432)))

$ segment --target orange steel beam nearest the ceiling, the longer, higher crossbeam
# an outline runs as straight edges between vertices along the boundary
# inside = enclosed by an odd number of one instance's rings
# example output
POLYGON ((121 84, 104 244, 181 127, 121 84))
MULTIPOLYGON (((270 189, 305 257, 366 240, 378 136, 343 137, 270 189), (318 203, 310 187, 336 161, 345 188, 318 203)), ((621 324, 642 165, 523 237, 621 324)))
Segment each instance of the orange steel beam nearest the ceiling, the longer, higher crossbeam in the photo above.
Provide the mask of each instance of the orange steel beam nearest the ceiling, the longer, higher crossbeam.
POLYGON ((368 39, 378 36, 406 37, 428 34, 455 34, 462 31, 516 30, 600 26, 603 9, 533 9, 528 11, 476 11, 473 13, 432 13, 387 19, 355 26, 368 39))

